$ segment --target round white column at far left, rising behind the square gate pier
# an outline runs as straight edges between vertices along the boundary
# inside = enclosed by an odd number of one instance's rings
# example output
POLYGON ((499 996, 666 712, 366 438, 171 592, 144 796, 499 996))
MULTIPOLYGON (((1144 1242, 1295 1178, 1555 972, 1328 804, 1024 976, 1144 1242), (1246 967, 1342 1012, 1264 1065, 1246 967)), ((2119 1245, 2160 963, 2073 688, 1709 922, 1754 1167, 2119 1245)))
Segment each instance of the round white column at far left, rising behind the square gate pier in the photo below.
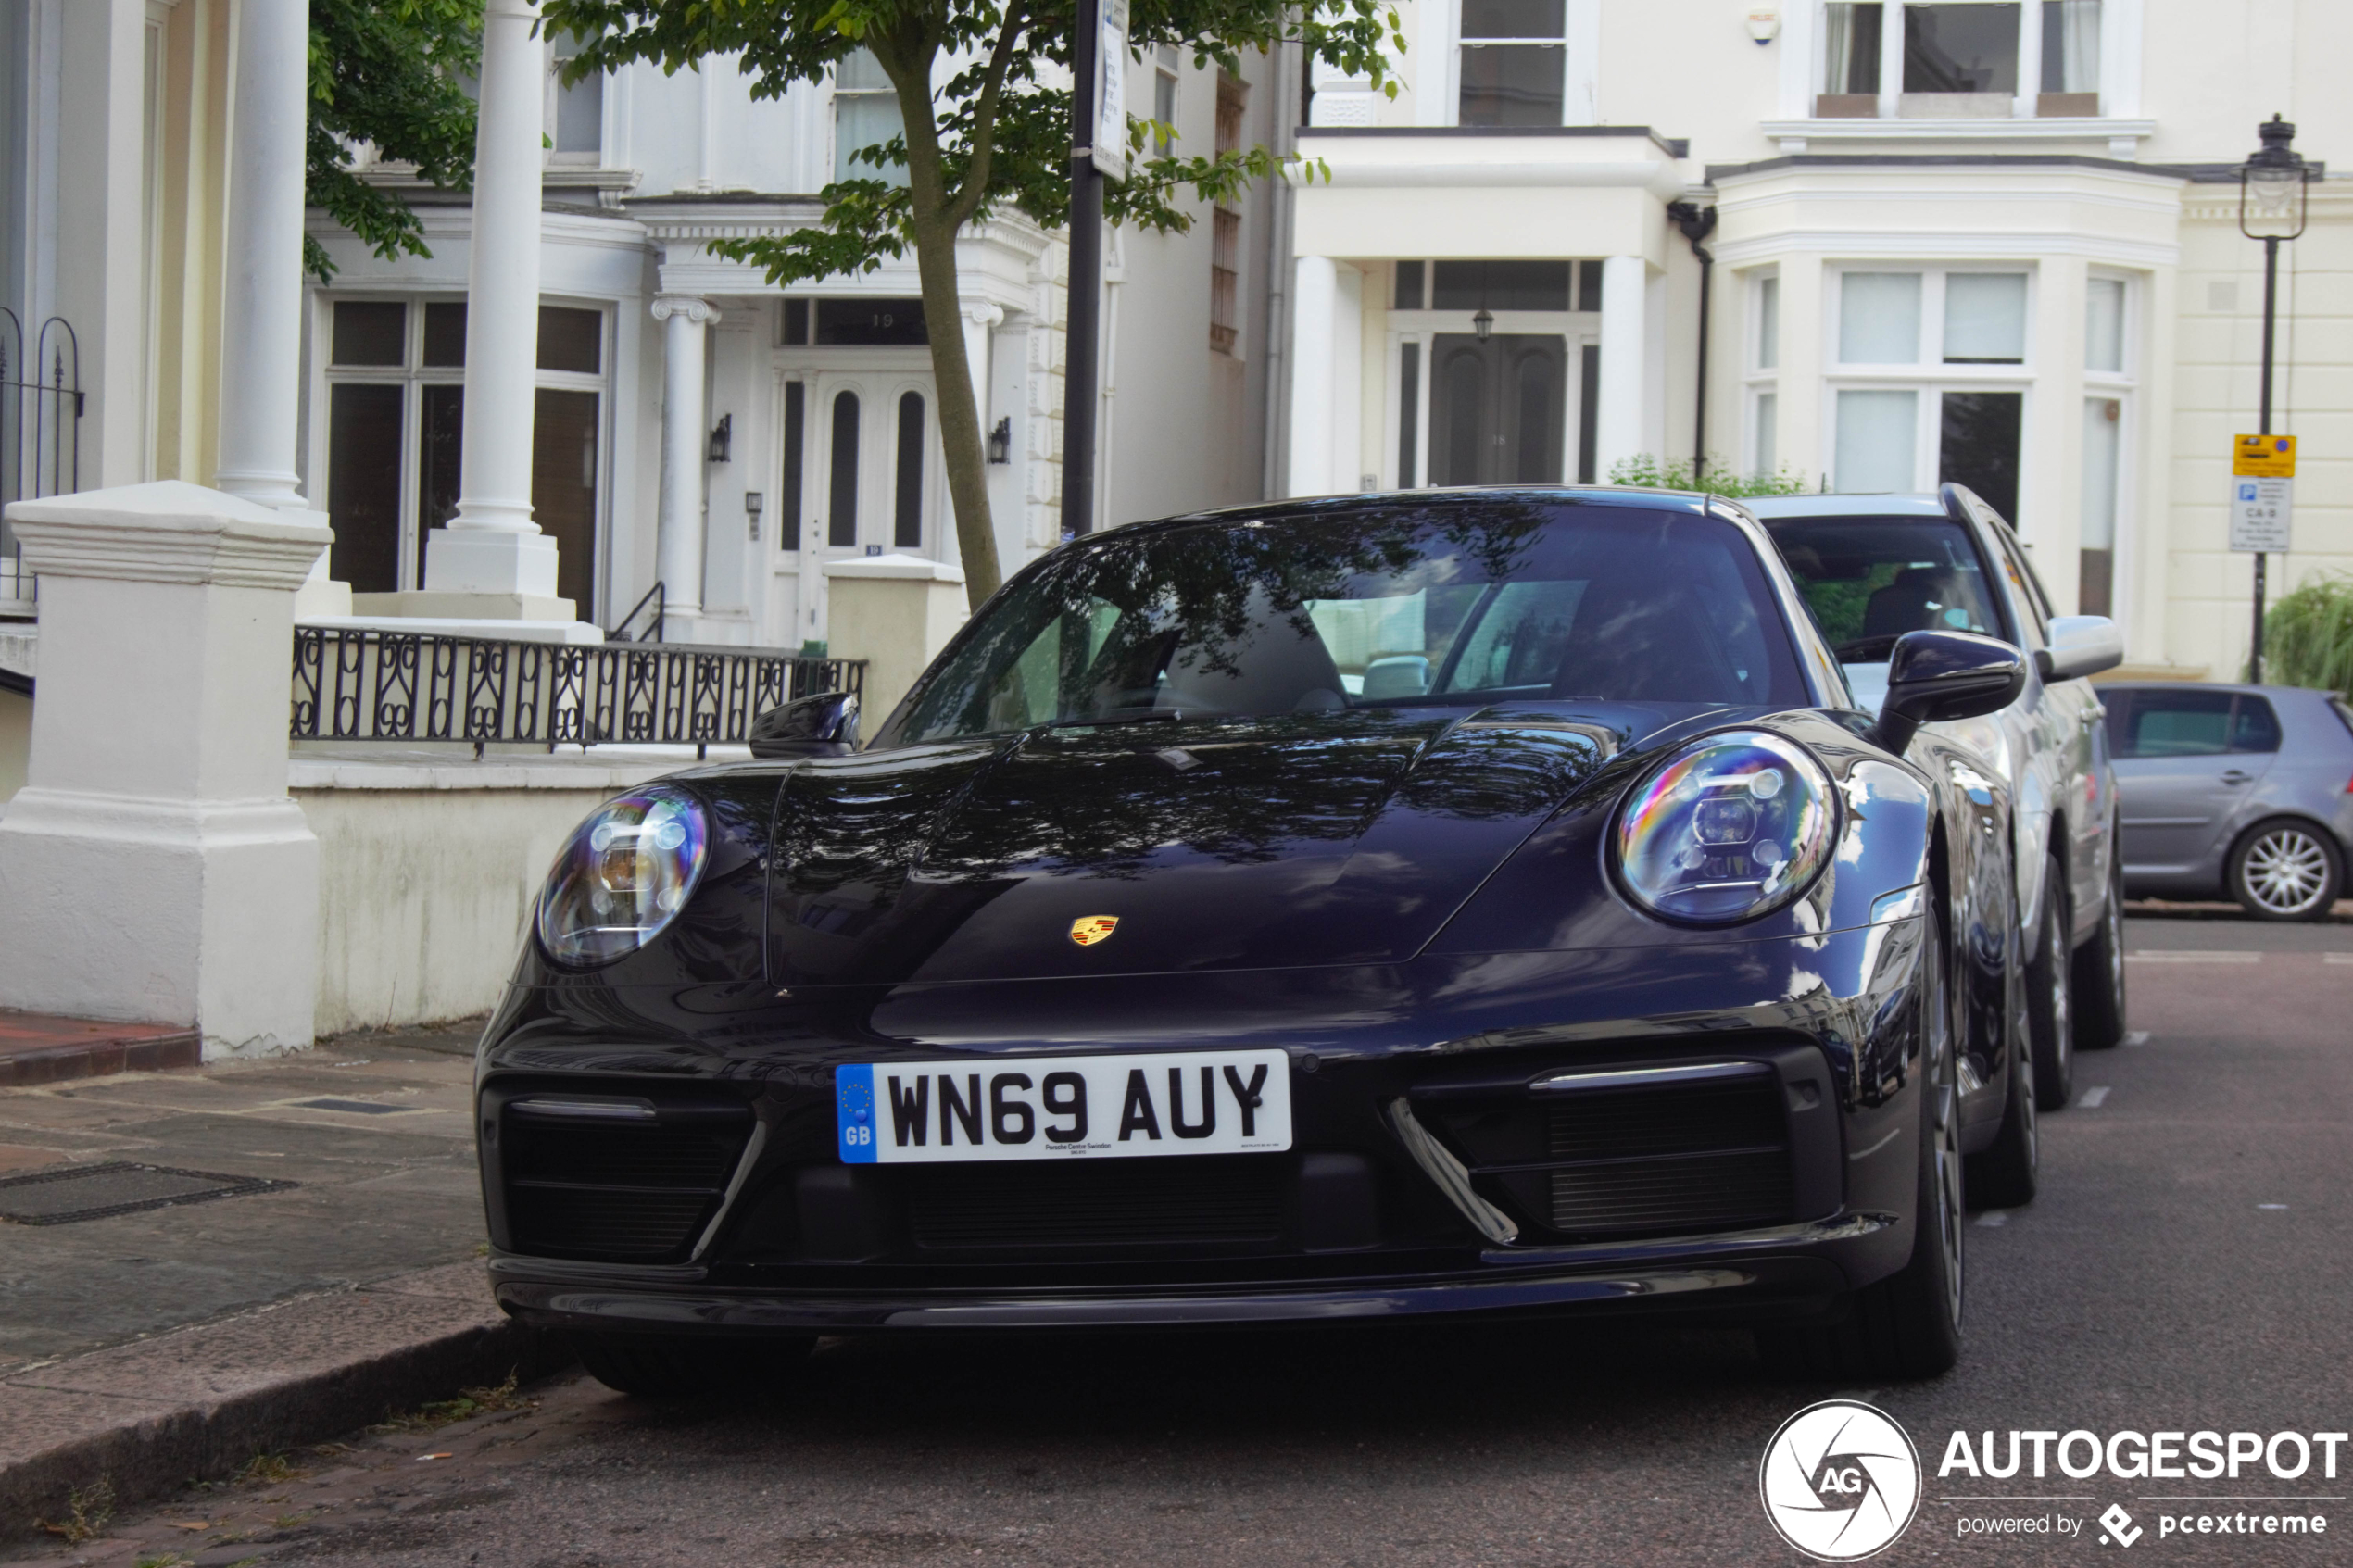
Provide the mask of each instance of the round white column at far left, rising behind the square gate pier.
POLYGON ((311 9, 304 0, 245 0, 238 9, 228 136, 235 266, 221 284, 221 447, 214 482, 273 510, 308 505, 294 473, 308 80, 311 9))

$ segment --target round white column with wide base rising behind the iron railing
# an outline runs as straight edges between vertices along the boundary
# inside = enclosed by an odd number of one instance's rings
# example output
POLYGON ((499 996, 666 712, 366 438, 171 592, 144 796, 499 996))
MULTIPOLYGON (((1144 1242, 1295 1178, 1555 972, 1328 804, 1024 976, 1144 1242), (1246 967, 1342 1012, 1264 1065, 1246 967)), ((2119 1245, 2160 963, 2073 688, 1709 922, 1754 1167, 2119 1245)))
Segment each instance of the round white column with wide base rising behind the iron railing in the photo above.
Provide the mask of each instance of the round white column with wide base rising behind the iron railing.
MULTIPOLYGON (((572 618, 555 607, 555 541, 532 522, 539 390, 539 172, 546 40, 534 0, 482 7, 482 101, 466 268, 466 421, 449 527, 426 536, 426 592, 485 595, 478 614, 572 618)), ((449 609, 449 607, 442 607, 449 609)))

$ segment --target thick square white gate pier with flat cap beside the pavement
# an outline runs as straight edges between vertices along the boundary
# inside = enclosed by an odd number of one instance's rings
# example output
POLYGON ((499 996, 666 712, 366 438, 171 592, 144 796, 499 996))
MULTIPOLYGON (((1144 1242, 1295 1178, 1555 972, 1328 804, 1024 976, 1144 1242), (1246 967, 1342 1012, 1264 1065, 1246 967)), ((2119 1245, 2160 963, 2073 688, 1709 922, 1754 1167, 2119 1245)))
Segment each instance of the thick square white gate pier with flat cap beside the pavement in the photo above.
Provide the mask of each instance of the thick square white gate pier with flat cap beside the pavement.
POLYGON ((0 999, 311 1044, 318 839, 287 797, 294 590, 327 531, 179 480, 19 501, 40 703, 0 816, 0 999))

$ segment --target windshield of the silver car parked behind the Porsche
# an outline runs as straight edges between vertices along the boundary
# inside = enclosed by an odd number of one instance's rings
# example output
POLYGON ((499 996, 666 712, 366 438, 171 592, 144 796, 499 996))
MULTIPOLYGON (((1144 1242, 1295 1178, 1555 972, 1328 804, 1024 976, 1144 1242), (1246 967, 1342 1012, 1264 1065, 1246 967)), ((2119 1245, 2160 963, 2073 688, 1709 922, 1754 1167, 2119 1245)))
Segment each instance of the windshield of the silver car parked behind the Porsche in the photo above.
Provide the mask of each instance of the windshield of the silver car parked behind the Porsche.
POLYGON ((1767 517, 1840 663, 1887 663, 1904 632, 2009 642, 1969 534, 1944 517, 1767 517))

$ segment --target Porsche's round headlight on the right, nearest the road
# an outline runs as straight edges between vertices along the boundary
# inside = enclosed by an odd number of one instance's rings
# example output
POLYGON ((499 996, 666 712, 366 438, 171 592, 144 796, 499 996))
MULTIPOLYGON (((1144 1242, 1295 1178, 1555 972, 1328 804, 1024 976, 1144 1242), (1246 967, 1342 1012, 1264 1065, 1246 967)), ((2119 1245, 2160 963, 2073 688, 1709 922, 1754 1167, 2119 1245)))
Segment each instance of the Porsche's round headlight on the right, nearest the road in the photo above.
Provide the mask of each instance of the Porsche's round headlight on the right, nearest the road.
POLYGON ((1762 729, 1675 752, 1619 809, 1619 875, 1666 919, 1729 924, 1781 907, 1831 856, 1831 776, 1762 729))

